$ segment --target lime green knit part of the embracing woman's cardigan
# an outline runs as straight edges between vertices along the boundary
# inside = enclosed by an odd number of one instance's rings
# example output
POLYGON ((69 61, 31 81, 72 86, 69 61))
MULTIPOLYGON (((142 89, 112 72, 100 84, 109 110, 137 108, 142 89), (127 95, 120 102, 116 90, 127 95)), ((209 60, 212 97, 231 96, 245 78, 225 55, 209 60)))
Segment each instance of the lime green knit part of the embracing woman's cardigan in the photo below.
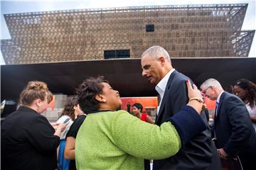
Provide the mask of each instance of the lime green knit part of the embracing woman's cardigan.
POLYGON ((161 127, 127 111, 91 113, 75 140, 77 169, 144 169, 144 159, 165 159, 181 148, 170 122, 161 127))

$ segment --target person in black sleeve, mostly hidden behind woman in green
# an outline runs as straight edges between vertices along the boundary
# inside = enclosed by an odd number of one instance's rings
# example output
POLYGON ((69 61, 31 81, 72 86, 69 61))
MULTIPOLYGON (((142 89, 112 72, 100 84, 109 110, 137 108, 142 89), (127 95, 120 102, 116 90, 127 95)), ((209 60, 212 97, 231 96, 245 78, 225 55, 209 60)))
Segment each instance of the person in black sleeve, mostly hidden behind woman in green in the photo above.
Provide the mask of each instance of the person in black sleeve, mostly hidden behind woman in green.
POLYGON ((70 126, 68 133, 66 135, 66 142, 65 142, 65 151, 64 157, 65 159, 70 159, 69 169, 75 170, 75 138, 78 134, 78 130, 82 125, 83 121, 86 118, 86 114, 83 113, 80 109, 78 104, 78 99, 73 98, 73 109, 75 111, 75 121, 70 126))

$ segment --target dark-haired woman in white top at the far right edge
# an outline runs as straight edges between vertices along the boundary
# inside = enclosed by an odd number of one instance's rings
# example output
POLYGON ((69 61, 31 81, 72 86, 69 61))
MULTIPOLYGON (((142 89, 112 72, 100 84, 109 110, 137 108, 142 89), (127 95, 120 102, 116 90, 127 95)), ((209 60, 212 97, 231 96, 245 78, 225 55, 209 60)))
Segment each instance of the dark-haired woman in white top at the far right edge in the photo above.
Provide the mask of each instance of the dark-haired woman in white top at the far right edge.
POLYGON ((234 91, 235 95, 245 103, 256 131, 256 84, 247 79, 240 79, 235 83, 234 91))

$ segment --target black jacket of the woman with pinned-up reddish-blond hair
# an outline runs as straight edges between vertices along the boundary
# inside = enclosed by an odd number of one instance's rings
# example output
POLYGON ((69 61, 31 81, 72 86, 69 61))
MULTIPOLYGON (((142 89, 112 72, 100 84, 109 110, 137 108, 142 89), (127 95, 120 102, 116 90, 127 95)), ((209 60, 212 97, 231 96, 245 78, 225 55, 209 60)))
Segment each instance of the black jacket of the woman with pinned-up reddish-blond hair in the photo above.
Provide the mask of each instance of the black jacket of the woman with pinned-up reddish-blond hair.
POLYGON ((60 137, 48 120, 21 106, 1 124, 1 169, 57 168, 60 137))

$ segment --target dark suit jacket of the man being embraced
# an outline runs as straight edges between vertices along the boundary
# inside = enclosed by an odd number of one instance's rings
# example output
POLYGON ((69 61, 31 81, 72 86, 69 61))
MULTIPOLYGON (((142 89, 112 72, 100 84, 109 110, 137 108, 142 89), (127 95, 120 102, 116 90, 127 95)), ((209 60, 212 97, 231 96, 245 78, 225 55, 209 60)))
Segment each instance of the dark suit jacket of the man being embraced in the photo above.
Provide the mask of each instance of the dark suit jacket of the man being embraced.
MULTIPOLYGON (((159 115, 156 117, 156 125, 164 123, 168 117, 178 113, 188 103, 186 79, 189 78, 177 71, 171 73, 159 115)), ((154 160, 154 169, 220 169, 219 157, 210 137, 206 114, 201 113, 201 118, 205 120, 207 130, 188 141, 175 156, 154 160)))

